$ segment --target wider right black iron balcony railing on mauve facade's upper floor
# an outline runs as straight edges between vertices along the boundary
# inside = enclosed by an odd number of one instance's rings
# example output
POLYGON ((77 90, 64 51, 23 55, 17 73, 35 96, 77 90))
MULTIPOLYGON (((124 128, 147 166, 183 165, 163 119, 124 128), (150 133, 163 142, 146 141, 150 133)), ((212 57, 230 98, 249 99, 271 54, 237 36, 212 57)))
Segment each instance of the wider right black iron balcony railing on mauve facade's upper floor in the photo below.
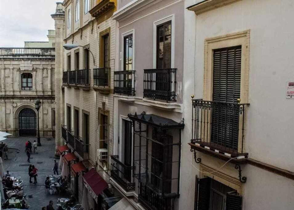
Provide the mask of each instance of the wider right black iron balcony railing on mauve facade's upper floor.
POLYGON ((176 101, 177 69, 144 69, 144 98, 176 101))

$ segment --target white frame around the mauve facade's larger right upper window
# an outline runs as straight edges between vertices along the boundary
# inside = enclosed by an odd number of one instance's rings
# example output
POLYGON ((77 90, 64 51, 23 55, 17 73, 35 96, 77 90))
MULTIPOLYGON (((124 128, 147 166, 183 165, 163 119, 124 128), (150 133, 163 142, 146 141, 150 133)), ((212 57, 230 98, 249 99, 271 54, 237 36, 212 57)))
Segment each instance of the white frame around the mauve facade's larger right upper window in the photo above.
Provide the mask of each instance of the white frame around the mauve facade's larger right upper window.
POLYGON ((175 68, 175 14, 153 22, 153 68, 156 69, 157 26, 171 21, 171 68, 175 68))

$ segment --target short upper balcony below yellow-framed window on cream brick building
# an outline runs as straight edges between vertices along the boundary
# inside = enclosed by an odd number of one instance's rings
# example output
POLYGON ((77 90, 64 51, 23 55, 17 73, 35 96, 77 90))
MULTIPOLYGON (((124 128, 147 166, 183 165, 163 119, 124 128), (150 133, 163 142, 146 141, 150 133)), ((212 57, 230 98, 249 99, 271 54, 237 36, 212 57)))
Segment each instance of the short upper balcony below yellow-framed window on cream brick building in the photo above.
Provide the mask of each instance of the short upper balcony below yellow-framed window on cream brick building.
POLYGON ((93 89, 99 93, 110 93, 110 68, 93 69, 93 89))

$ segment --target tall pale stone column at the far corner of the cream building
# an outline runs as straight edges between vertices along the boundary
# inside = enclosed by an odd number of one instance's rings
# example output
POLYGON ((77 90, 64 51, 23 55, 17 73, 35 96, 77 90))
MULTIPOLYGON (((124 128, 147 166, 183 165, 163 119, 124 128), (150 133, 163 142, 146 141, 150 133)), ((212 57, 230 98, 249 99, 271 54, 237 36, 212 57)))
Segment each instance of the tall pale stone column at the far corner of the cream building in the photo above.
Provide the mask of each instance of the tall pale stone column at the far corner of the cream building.
POLYGON ((61 2, 56 3, 56 11, 51 14, 55 21, 55 145, 63 144, 61 125, 64 125, 64 104, 62 93, 63 39, 64 39, 64 7, 61 2))

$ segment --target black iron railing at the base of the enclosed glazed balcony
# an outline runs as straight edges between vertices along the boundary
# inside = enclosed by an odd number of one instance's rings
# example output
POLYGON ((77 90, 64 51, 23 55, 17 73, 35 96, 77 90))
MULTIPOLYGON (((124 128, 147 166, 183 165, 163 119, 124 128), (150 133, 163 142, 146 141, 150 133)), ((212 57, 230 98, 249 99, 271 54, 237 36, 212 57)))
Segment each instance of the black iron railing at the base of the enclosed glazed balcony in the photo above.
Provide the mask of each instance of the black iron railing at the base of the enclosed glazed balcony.
POLYGON ((148 210, 174 210, 176 197, 175 193, 162 196, 143 181, 139 181, 139 203, 148 210))

